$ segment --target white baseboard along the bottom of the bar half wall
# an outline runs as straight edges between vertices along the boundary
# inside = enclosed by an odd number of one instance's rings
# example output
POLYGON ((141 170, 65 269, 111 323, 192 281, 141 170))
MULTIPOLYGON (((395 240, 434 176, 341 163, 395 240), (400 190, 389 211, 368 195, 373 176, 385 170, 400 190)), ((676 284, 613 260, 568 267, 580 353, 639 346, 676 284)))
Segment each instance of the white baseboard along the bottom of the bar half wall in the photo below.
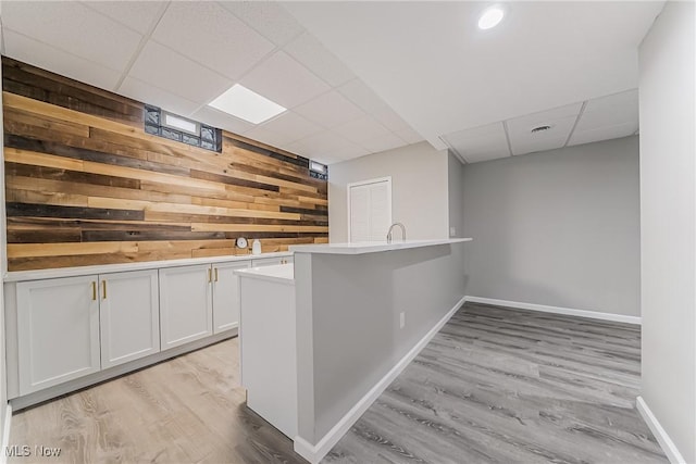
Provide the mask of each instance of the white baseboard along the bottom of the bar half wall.
POLYGON ((319 463, 344 435, 352 427, 360 416, 368 411, 368 407, 380 398, 380 394, 398 377, 411 361, 421 352, 440 328, 455 315, 457 310, 464 304, 467 297, 462 298, 455 306, 440 318, 435 326, 419 340, 418 343, 377 384, 368 391, 350 411, 348 411, 338 423, 319 440, 316 444, 311 444, 301 437, 295 437, 295 452, 312 464, 319 463))

